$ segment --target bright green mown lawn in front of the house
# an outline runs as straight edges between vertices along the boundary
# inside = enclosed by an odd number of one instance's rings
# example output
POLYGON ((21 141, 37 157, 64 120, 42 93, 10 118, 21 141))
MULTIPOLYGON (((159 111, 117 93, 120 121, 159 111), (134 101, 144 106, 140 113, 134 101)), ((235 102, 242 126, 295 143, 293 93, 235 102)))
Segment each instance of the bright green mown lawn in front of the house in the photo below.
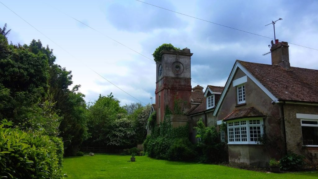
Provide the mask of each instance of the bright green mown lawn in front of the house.
POLYGON ((156 160, 147 156, 95 154, 64 159, 68 179, 104 178, 318 178, 318 172, 264 173, 222 165, 156 160))

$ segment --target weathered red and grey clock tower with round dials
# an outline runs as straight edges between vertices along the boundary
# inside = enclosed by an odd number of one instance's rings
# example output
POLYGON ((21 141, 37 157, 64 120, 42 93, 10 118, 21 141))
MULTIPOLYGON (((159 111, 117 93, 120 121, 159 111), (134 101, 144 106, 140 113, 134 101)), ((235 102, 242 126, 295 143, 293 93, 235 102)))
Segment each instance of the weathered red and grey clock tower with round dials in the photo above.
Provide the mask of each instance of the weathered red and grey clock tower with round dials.
POLYGON ((167 107, 172 112, 174 127, 185 125, 186 113, 191 108, 191 56, 190 49, 163 50, 156 65, 157 124, 164 120, 167 107))

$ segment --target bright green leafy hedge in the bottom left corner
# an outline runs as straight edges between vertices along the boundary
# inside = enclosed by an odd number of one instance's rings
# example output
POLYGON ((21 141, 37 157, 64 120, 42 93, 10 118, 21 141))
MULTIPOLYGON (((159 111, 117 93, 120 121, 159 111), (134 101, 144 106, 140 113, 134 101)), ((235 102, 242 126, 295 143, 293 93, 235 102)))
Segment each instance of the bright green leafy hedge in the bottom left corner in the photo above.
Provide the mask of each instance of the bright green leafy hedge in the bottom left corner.
POLYGON ((7 178, 64 178, 57 146, 48 136, 23 132, 6 120, 0 125, 0 176, 7 178))

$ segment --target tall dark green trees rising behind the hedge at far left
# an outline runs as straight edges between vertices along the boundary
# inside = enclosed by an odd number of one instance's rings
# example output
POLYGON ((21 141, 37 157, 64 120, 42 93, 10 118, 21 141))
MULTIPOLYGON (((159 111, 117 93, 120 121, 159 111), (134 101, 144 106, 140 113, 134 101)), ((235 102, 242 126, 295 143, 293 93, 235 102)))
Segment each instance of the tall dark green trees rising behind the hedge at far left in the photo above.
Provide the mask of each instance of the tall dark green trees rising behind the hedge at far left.
POLYGON ((66 155, 73 155, 88 136, 85 95, 80 85, 68 89, 71 71, 54 64, 56 57, 40 40, 30 45, 8 44, 6 25, 0 28, 0 119, 24 130, 61 136, 66 155))

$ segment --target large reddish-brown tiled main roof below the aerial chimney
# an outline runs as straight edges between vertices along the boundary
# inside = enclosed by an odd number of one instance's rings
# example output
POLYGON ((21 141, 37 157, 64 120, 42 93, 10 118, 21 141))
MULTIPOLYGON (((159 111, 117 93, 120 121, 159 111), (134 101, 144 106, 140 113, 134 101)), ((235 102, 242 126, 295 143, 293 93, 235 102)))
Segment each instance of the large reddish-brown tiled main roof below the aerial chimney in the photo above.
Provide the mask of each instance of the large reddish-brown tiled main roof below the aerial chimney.
POLYGON ((318 70, 237 61, 279 100, 318 103, 318 70))

